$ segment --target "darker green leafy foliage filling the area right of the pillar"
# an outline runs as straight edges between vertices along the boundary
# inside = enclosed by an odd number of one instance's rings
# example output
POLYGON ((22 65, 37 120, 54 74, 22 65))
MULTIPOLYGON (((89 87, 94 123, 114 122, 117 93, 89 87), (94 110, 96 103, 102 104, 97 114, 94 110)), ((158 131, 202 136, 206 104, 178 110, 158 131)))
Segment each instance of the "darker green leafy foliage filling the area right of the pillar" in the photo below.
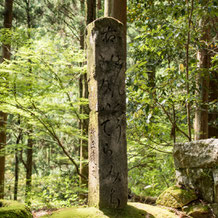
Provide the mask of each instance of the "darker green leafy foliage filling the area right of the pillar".
MULTIPOLYGON (((196 53, 209 45, 211 55, 216 53, 215 38, 200 41, 199 21, 204 16, 213 20, 215 10, 214 1, 193 1, 193 8, 191 1, 128 1, 129 187, 139 195, 157 196, 174 183, 171 152, 174 143, 189 140, 187 103, 193 126, 196 53)), ((215 37, 215 26, 207 25, 215 37)))

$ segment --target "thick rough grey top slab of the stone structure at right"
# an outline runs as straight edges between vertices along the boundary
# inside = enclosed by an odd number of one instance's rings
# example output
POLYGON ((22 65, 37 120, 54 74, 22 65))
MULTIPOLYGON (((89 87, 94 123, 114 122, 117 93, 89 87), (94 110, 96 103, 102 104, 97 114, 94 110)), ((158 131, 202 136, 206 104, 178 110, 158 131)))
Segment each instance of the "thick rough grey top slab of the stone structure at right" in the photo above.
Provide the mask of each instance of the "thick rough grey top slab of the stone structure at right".
POLYGON ((218 139, 176 144, 173 150, 176 169, 218 166, 218 139))

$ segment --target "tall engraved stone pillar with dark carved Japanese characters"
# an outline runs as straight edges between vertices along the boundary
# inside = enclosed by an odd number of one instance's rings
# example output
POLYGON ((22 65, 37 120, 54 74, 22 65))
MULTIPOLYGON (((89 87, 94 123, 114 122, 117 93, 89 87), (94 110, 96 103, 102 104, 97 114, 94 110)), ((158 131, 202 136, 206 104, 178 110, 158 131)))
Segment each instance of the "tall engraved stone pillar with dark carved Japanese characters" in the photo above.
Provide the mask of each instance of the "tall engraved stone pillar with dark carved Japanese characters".
POLYGON ((127 204, 125 42, 123 25, 100 18, 87 27, 89 206, 127 204))

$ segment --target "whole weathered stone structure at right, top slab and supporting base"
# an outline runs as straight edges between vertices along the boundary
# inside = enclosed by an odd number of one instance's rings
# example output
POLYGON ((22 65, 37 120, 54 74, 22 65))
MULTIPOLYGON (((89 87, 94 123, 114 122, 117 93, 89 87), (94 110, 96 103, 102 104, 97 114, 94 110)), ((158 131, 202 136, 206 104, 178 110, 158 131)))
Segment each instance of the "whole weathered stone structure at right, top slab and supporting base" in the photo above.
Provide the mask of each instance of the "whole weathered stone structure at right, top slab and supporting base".
POLYGON ((177 144, 173 151, 177 184, 196 190, 209 202, 218 202, 218 139, 177 144))

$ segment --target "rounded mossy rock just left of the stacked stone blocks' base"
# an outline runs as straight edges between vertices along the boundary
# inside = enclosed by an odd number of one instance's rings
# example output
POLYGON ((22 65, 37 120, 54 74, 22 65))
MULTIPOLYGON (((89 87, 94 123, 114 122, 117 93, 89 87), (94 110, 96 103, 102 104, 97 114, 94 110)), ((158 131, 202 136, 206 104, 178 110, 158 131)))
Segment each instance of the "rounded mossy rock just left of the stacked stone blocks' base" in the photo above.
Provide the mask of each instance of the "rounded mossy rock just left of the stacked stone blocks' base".
POLYGON ((196 199, 193 190, 172 186, 160 194, 156 203, 166 207, 181 208, 196 199))

